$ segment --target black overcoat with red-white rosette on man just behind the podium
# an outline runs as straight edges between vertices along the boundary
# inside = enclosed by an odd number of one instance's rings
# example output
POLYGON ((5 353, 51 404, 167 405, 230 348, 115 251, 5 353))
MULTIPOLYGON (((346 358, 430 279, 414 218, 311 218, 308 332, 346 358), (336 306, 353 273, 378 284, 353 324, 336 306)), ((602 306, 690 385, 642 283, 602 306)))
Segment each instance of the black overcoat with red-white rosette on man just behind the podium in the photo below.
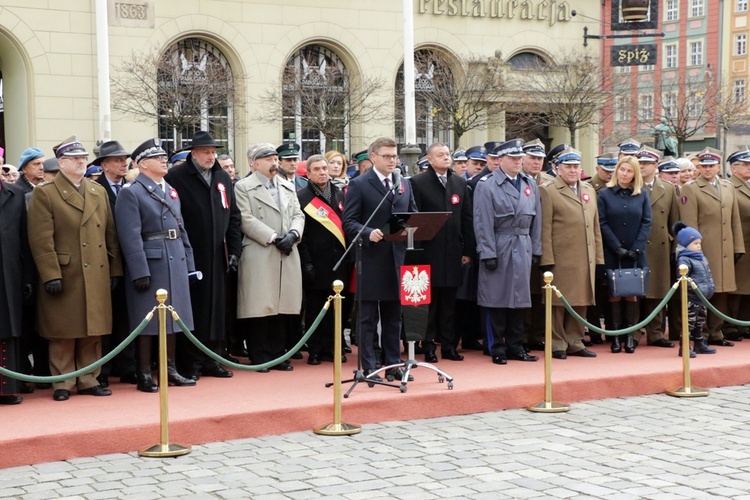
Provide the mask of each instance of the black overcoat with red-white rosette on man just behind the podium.
POLYGON ((431 241, 421 242, 426 264, 431 266, 432 285, 458 287, 461 284, 461 257, 472 256, 476 243, 472 224, 472 204, 466 180, 448 170, 445 187, 430 166, 409 179, 414 201, 420 212, 451 212, 451 217, 431 241))

